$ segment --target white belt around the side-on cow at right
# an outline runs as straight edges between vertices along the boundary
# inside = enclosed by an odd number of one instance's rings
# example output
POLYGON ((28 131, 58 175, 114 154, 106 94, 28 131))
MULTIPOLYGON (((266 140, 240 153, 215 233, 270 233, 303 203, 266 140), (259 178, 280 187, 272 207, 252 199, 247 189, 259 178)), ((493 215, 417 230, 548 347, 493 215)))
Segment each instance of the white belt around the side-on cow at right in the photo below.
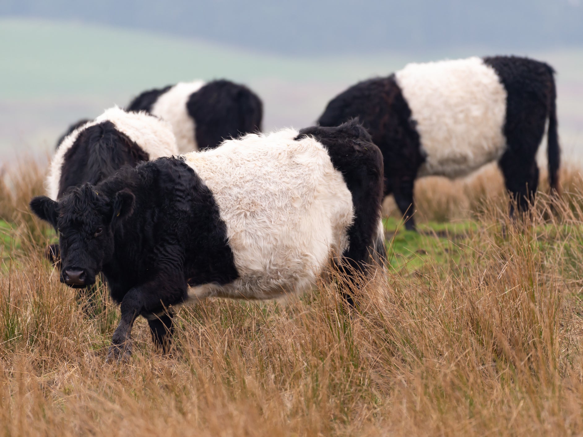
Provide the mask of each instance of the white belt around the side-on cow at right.
POLYGON ((461 177, 502 156, 507 93, 482 59, 409 64, 395 78, 427 156, 419 176, 461 177))

